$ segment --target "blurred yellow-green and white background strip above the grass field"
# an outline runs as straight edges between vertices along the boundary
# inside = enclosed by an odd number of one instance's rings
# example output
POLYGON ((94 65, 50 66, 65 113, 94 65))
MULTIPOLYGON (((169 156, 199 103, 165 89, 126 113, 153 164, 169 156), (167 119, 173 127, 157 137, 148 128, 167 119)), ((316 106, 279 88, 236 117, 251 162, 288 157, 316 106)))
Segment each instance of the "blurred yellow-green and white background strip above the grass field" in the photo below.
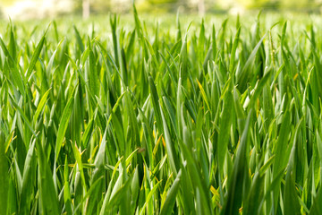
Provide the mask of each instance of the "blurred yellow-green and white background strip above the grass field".
MULTIPOLYGON (((0 0, 0 18, 43 19, 129 13, 133 0, 0 0)), ((321 13, 322 0, 136 0, 140 13, 244 13, 266 11, 321 13)))

